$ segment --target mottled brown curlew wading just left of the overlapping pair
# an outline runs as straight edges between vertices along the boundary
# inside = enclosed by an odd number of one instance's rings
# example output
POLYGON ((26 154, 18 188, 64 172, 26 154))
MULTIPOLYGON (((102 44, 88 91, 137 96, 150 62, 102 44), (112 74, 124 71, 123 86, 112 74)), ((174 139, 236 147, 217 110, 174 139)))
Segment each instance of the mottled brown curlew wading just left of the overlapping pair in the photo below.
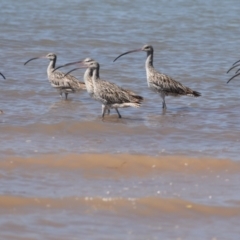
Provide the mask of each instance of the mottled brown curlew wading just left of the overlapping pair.
POLYGON ((24 65, 26 65, 32 60, 39 58, 47 58, 50 60, 47 68, 48 80, 51 83, 51 86, 59 91, 61 97, 64 93, 65 99, 67 99, 69 93, 75 93, 86 89, 85 84, 78 81, 78 79, 74 76, 65 75, 65 73, 62 73, 60 71, 54 71, 57 61, 57 55, 54 53, 48 53, 46 56, 31 58, 27 62, 25 62, 24 65))

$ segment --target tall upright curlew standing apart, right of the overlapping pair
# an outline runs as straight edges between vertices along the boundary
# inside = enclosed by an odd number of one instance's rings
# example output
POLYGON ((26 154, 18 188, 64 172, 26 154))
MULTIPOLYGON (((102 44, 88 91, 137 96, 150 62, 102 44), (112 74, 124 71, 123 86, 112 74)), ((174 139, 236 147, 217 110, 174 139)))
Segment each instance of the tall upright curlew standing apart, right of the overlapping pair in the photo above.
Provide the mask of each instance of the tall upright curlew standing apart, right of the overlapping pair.
POLYGON ((171 77, 163 73, 157 72, 155 70, 155 68, 153 67, 153 47, 151 45, 144 45, 140 49, 122 53, 117 58, 114 59, 114 62, 123 55, 139 51, 144 51, 147 53, 145 68, 147 74, 148 87, 154 92, 160 94, 162 98, 163 109, 167 108, 165 96, 181 96, 181 95, 188 95, 194 97, 201 96, 201 93, 193 91, 192 89, 182 85, 180 82, 175 81, 171 77))

